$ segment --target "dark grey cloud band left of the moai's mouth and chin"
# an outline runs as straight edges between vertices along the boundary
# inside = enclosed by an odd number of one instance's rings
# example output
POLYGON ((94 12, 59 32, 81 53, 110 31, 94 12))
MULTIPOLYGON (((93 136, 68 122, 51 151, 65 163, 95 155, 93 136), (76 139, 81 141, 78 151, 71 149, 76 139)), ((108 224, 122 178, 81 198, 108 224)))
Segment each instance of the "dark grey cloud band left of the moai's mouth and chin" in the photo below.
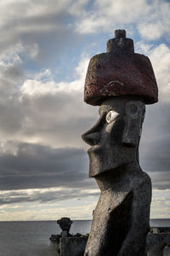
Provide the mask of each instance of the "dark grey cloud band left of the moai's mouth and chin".
POLYGON ((93 188, 88 157, 77 148, 49 148, 20 144, 18 154, 0 157, 0 189, 93 188))

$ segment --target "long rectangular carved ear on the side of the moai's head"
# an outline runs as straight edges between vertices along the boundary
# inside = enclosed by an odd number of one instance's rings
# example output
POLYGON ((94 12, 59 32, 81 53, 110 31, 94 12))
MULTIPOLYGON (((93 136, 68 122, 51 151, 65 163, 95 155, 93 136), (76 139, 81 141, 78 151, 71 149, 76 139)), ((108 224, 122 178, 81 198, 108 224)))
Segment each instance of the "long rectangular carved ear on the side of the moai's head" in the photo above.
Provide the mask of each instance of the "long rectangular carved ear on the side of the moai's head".
POLYGON ((122 143, 127 144, 129 147, 136 147, 139 144, 139 137, 144 120, 144 107, 143 102, 127 102, 122 143))

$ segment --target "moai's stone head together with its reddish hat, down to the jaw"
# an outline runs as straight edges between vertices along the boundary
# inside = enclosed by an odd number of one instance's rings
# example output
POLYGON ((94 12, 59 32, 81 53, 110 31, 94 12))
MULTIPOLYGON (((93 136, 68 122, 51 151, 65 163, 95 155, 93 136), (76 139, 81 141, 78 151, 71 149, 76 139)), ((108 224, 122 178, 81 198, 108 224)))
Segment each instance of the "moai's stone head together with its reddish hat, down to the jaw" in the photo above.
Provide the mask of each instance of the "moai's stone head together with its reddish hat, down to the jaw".
POLYGON ((158 101, 158 89, 149 58, 134 53, 125 30, 89 61, 84 101, 100 106, 97 124, 82 135, 91 146, 89 176, 138 162, 145 104, 158 101))

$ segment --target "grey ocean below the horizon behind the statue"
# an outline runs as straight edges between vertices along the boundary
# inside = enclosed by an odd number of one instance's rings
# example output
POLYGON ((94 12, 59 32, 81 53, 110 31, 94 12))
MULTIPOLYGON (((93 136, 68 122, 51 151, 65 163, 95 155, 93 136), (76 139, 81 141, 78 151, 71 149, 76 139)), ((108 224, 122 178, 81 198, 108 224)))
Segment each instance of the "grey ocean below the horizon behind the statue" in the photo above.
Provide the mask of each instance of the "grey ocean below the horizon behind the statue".
MULTIPOLYGON (((70 233, 89 233, 91 220, 73 220, 70 233)), ((170 218, 150 219, 151 227, 170 226, 170 218)), ((56 221, 0 222, 0 256, 55 256, 49 237, 60 234, 56 221)))

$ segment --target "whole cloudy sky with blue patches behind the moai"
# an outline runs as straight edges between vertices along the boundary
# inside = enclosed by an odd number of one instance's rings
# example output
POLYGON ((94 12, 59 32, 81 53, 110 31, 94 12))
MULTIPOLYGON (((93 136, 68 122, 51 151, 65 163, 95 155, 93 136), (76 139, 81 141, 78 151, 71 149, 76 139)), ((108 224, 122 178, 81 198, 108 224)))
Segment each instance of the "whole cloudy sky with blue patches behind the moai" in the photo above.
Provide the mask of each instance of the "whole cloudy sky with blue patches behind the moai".
POLYGON ((89 59, 119 28, 156 74, 140 164, 151 218, 170 218, 169 15, 166 0, 0 1, 0 220, 92 218, 99 189, 81 135, 98 107, 83 102, 83 85, 89 59))

